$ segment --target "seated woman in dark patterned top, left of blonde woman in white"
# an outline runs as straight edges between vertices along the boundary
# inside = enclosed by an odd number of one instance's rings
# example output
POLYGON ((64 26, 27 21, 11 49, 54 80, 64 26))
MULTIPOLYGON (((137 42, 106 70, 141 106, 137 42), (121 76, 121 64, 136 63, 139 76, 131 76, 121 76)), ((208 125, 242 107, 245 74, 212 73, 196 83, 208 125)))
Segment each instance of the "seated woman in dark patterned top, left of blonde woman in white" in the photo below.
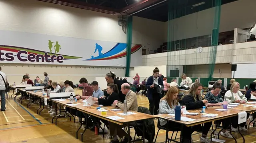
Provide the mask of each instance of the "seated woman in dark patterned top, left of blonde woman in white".
MULTIPOLYGON (((204 99, 208 100, 208 104, 206 106, 221 106, 223 104, 223 99, 222 96, 220 95, 221 88, 222 86, 219 82, 216 82, 212 86, 212 90, 210 92, 207 92, 206 96, 204 97, 204 99)), ((222 132, 220 132, 220 135, 230 139, 232 139, 233 137, 227 129, 228 126, 230 125, 231 119, 232 118, 226 118, 216 121, 216 124, 222 122, 223 130, 222 132)))

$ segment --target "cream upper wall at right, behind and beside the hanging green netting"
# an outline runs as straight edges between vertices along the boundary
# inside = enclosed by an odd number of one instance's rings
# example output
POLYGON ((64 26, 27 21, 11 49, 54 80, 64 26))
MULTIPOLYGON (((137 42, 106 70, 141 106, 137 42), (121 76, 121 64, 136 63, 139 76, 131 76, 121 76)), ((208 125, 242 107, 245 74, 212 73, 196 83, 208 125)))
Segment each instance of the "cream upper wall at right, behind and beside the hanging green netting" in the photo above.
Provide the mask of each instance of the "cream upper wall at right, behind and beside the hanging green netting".
MULTIPOLYGON (((232 31, 234 28, 248 28, 255 23, 256 0, 238 0, 221 6, 220 31, 232 31)), ((171 20, 174 40, 209 35, 214 24, 215 8, 200 11, 171 20)), ((168 22, 165 23, 165 39, 168 41, 168 22)))

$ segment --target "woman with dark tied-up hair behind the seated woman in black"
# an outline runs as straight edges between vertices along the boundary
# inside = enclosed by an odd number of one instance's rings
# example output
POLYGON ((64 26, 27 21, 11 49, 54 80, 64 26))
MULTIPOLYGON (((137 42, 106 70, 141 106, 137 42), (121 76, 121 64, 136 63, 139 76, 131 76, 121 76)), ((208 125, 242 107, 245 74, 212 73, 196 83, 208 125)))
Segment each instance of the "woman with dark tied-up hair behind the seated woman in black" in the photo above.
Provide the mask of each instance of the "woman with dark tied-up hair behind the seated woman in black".
MULTIPOLYGON (((108 82, 108 84, 113 83, 116 84, 118 86, 118 96, 119 96, 119 100, 120 102, 124 102, 125 100, 125 95, 122 94, 121 92, 121 81, 119 81, 118 79, 116 79, 116 74, 114 74, 113 72, 110 71, 110 73, 106 74, 105 76, 106 82, 108 82)), ((103 97, 107 97, 109 96, 109 94, 105 93, 103 97)), ((112 102, 113 103, 113 102, 112 102)))

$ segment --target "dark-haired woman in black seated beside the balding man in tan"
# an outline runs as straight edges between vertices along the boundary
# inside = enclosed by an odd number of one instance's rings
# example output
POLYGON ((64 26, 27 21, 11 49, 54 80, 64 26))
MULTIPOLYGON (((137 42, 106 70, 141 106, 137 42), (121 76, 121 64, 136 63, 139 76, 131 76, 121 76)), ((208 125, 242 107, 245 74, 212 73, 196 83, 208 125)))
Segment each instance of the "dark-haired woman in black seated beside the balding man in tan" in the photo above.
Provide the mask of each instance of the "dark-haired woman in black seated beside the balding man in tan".
POLYGON ((103 105, 103 106, 111 106, 112 103, 115 101, 115 100, 118 100, 119 101, 119 96, 118 96, 118 87, 116 84, 108 84, 107 86, 107 93, 109 94, 108 97, 106 98, 96 98, 94 97, 93 100, 94 101, 98 101, 99 105, 103 105))

